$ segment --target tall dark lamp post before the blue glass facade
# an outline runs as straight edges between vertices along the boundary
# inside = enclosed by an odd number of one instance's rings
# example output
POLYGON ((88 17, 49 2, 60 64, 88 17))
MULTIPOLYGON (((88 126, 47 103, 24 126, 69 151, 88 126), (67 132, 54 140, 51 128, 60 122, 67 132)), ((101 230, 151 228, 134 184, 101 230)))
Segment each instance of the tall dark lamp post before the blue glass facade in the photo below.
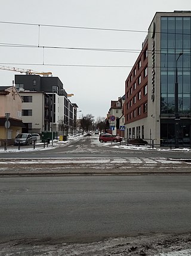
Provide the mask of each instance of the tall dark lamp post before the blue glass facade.
POLYGON ((174 134, 175 134, 175 147, 178 147, 178 132, 179 132, 179 120, 180 116, 178 113, 178 59, 183 55, 179 53, 178 58, 175 61, 175 87, 174 87, 174 134))

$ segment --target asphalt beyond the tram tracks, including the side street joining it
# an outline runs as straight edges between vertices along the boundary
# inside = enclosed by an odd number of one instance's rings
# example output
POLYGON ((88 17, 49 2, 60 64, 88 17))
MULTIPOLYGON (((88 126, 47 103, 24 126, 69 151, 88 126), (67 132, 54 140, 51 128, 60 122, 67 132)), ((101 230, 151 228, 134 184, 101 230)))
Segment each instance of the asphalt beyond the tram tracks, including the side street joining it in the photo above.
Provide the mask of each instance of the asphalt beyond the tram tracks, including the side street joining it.
MULTIPOLYGON (((55 144, 55 143, 54 143, 55 144)), ((123 143, 125 144, 125 143, 123 143)), ((158 150, 131 150, 119 149, 113 147, 119 143, 100 143, 98 135, 86 136, 79 140, 73 140, 66 144, 55 144, 56 147, 48 150, 32 150, 24 152, 27 146, 21 146, 20 152, 0 152, 0 159, 3 158, 85 158, 95 156, 103 157, 141 157, 141 158, 191 158, 191 152, 184 151, 158 151, 158 150)), ((51 144, 50 144, 51 146, 51 144)), ((28 146, 33 149, 33 146, 28 146)), ((39 147, 39 146, 38 146, 39 147)), ((42 147, 42 146, 41 146, 42 147)), ((8 149, 16 149, 16 146, 8 147, 8 149)))

